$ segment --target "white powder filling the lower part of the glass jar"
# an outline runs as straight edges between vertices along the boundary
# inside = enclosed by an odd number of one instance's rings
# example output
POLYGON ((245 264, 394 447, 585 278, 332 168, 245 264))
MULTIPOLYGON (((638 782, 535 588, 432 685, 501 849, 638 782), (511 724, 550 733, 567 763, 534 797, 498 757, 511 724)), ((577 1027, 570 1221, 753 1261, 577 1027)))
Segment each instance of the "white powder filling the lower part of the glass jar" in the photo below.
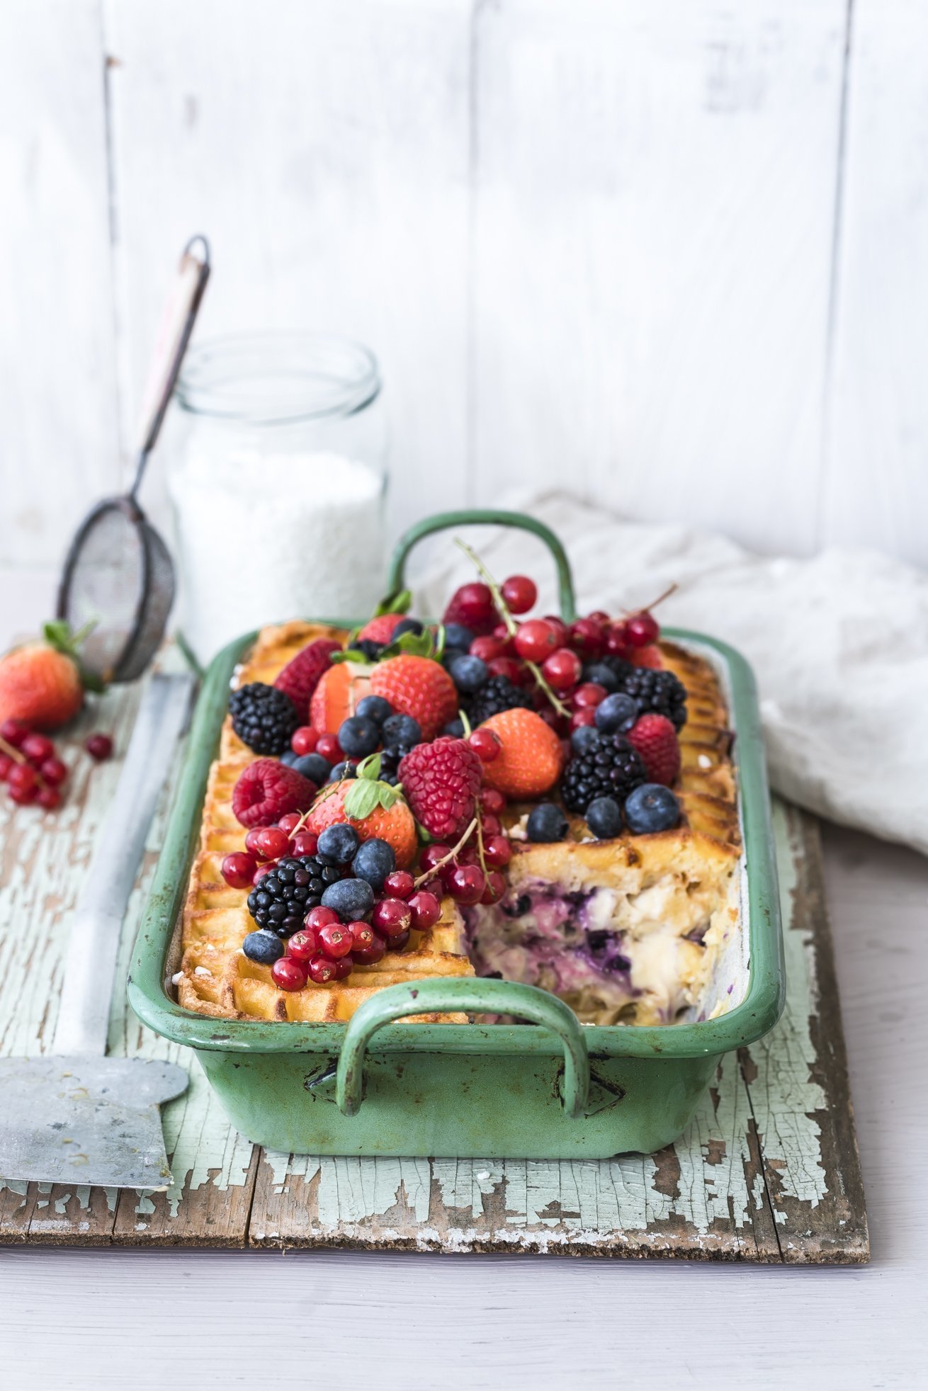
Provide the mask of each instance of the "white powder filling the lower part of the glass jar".
POLYGON ((291 618, 365 618, 383 587, 384 480, 334 452, 189 452, 170 476, 179 619, 200 662, 291 618))

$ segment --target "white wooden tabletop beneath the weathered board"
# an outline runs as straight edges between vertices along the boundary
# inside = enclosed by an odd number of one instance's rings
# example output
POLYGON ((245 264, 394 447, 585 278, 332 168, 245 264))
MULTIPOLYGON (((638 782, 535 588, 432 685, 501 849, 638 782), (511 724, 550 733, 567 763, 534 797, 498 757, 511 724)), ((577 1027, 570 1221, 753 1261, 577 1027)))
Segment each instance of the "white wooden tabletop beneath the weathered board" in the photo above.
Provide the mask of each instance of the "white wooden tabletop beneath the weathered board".
POLYGON ((925 1384, 928 860, 832 828, 825 860, 870 1266, 7 1248, 4 1391, 925 1384))

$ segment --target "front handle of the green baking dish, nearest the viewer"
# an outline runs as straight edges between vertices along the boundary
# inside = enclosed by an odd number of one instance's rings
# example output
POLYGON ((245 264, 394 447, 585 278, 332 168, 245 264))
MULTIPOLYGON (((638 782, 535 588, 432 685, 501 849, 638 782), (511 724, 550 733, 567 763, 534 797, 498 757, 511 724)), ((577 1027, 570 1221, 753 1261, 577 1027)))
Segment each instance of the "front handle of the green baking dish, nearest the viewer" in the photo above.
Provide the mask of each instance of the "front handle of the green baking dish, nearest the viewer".
POLYGON ((590 1059, 583 1025, 555 995, 513 981, 455 979, 415 981, 377 990, 352 1015, 345 1032, 335 1102, 344 1116, 356 1116, 362 1100, 365 1053, 384 1024, 408 1014, 513 1014, 551 1029, 563 1043, 563 1110, 569 1120, 583 1116, 590 1091, 590 1059))

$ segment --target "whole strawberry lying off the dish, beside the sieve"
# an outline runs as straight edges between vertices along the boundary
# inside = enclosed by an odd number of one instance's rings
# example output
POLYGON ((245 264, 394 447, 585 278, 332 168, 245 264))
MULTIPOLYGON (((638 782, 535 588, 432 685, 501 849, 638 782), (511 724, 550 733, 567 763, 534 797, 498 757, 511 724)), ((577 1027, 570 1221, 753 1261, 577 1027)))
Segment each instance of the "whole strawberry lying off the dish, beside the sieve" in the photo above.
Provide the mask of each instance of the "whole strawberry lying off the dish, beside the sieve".
POLYGON ((103 690, 78 659, 89 629, 72 634, 67 623, 46 623, 42 632, 45 641, 0 658, 0 722, 21 719, 31 729, 57 729, 81 709, 85 689, 103 690))

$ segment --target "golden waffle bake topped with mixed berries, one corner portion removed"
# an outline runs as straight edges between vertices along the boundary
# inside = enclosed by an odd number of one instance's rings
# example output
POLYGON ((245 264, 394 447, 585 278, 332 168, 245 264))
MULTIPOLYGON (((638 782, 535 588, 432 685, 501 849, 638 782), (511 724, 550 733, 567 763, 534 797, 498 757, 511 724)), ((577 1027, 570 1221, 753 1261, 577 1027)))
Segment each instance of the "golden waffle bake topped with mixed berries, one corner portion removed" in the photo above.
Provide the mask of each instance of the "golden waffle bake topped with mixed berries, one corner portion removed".
MULTIPOLYGON (((498 616, 502 600, 498 591, 495 595, 498 616)), ((455 616, 452 601, 445 615, 447 633, 459 641, 462 625, 455 629, 451 623, 455 616)), ((505 616, 516 629, 512 616, 505 616)), ((600 704, 604 711, 609 708, 605 697, 611 694, 597 676, 607 682, 602 664, 609 654, 604 652, 597 666, 589 659, 582 664, 568 643, 555 648, 555 655, 566 652, 572 658, 573 665, 561 657, 566 675, 573 675, 569 690, 558 664, 550 666, 545 659, 540 668, 537 664, 529 668, 526 658, 526 668, 536 673, 551 670, 544 691, 554 702, 554 715, 545 721, 537 714, 544 704, 538 690, 529 698, 527 682, 509 680, 509 675, 516 675, 511 666, 505 662, 499 666, 497 661, 494 669, 491 648, 486 645, 494 638, 477 633, 470 654, 455 652, 452 647, 449 657, 438 661, 429 632, 417 632, 422 625, 408 620, 406 636, 401 633, 391 641, 401 618, 374 618, 353 634, 301 622, 267 627, 238 669, 234 687, 242 694, 223 725, 218 757, 210 769, 199 851, 179 926, 181 960, 173 976, 179 1003, 224 1018, 344 1021, 383 986, 474 974, 551 990, 589 1024, 666 1024, 705 1018, 739 1003, 737 971, 743 967, 739 818, 728 715, 710 662, 658 641, 657 625, 653 633, 643 625, 650 641, 629 647, 627 659, 612 655, 609 669, 618 673, 616 683, 625 682, 637 693, 636 723, 625 732, 629 746, 625 734, 608 730, 605 718, 601 721, 605 732, 597 732, 595 712, 600 704), (326 644, 353 647, 351 655, 358 662, 331 664, 326 644), (312 670, 301 684, 301 662, 306 669, 312 665, 305 655, 309 652, 321 652, 320 670, 312 670), (669 677, 661 679, 664 705, 634 676, 643 668, 668 672, 680 683, 676 687, 669 677), (678 694, 682 691, 685 708, 666 704, 668 683, 678 694), (371 696, 378 697, 380 707, 377 701, 365 702, 371 696), (580 704, 582 698, 590 701, 589 707, 580 704), (577 718, 577 711, 586 708, 591 716, 577 718), (366 709, 377 714, 373 732, 366 709), (659 709, 673 716, 676 729, 659 709), (377 721, 391 712, 394 725, 399 716, 412 721, 413 733, 409 725, 397 726, 405 730, 402 737, 388 733, 387 721, 381 734, 377 721), (467 716, 463 730, 455 723, 462 715, 467 716), (646 730, 647 719, 651 726, 646 730), (582 729, 587 736, 579 736, 582 729), (639 734, 654 737, 654 732, 662 739, 657 751, 641 739, 636 744, 639 734), (371 740, 381 747, 369 748, 371 740), (627 751, 622 755, 622 771, 614 775, 626 782, 615 797, 605 798, 607 819, 618 815, 623 821, 621 829, 614 828, 615 833, 597 825, 593 805, 577 810, 577 798, 586 796, 586 785, 577 783, 579 748, 595 750, 607 740, 609 748, 615 743, 627 751), (306 747, 319 750, 313 755, 316 764, 298 753, 306 747), (672 772, 662 762, 668 748, 676 759, 672 772), (323 751, 326 764, 320 762, 323 751), (342 762, 333 768, 331 759, 345 754, 356 766, 342 762), (288 765, 287 786, 296 803, 288 804, 289 821, 274 810, 253 821, 257 812, 255 807, 242 811, 238 790, 264 765, 271 773, 280 771, 273 759, 288 765), (301 773, 301 768, 309 768, 316 779, 320 768, 328 769, 328 775, 323 772, 323 779, 307 782, 309 775, 301 773), (661 768, 665 771, 659 772, 661 768), (380 801, 370 812, 367 804, 362 807, 358 801, 353 805, 365 815, 352 815, 349 797, 362 797, 365 779, 365 794, 380 801), (545 779, 548 786, 543 787, 545 779), (632 793, 654 787, 662 796, 653 798, 651 810, 639 811, 636 821, 632 793), (345 812, 338 811, 342 801, 345 812), (657 817, 658 822, 662 817, 666 822, 668 815, 672 825, 643 829, 641 817, 646 821, 657 817), (391 847, 381 850, 390 862, 402 867, 408 882, 401 885, 403 874, 394 872, 384 889, 373 876, 377 901, 362 917, 380 929, 381 935, 374 932, 377 947, 342 956, 337 961, 338 978, 331 978, 327 953, 342 951, 344 940, 333 946, 323 942, 324 933, 307 928, 316 943, 310 961, 307 953, 301 957, 296 950, 307 932, 294 933, 292 918, 284 925, 278 921, 277 926, 267 921, 267 914, 273 919, 274 911, 284 912, 275 908, 274 887, 278 896, 289 892, 281 887, 287 875, 281 872, 278 882, 277 869, 289 864, 299 872, 299 865, 292 858, 281 858, 277 865, 270 853, 255 854, 255 828, 284 826, 287 842, 296 825, 301 833, 312 833, 303 849, 321 854, 326 828, 339 826, 344 832, 351 826, 358 830, 355 843, 377 840, 383 847, 383 836, 390 842, 394 832, 378 828, 394 822, 398 826, 408 822, 419 832, 412 849, 394 836, 391 847), (544 830, 545 825, 554 829, 544 830), (316 851, 319 837, 323 839, 316 851), (259 897, 262 874, 271 885, 263 899, 259 897), (422 890, 424 899, 433 896, 433 914, 426 911, 427 906, 410 914, 403 904, 403 897, 410 904, 422 900, 422 890), (388 935, 392 929, 384 926, 388 910, 381 901, 391 893, 399 896, 390 901, 401 928, 392 938, 388 935), (260 904, 266 917, 256 919, 260 904)), ((650 615, 646 618, 653 623, 650 615)), ((605 623, 604 618, 598 622, 605 623)), ((476 623, 469 632, 474 629, 476 623)), ((604 626, 602 645, 607 632, 611 630, 604 626)), ((563 641, 563 634, 558 636, 563 641)), ((609 652, 615 654, 618 645, 614 640, 609 652)), ((516 645, 516 664, 518 652, 516 645)), ((614 693, 611 698, 615 700, 614 693)), ((333 871, 348 879, 352 872, 348 864, 333 871)), ((360 869, 356 872, 360 876, 360 869)), ((352 882, 356 887, 356 881, 352 882)), ((292 906, 285 911, 294 911, 292 906)), ((342 912, 338 921, 335 912, 328 917, 335 939, 352 926, 346 922, 351 914, 342 912)), ((363 936, 363 921, 353 928, 363 936)), ((363 940, 370 936, 367 931, 363 940)), ((423 1022, 458 1018, 416 1015, 423 1022)))

